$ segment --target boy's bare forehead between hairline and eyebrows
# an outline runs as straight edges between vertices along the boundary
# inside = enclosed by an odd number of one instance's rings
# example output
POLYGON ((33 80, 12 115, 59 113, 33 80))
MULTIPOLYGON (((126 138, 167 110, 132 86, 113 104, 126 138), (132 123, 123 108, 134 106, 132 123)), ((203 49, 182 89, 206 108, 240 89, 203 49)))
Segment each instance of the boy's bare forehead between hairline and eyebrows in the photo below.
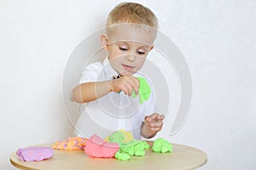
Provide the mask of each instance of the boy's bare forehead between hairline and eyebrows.
POLYGON ((137 42, 152 45, 156 36, 153 27, 137 24, 118 24, 108 27, 108 42, 137 42))

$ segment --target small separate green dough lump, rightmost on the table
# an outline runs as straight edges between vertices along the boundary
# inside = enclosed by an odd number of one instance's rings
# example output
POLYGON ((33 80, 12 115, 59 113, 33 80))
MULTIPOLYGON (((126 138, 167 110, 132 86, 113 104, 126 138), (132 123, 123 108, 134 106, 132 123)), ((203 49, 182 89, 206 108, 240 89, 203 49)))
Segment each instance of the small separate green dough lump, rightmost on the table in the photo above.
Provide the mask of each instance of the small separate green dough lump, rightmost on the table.
POLYGON ((158 153, 172 152, 172 144, 170 144, 166 139, 156 139, 152 146, 152 150, 158 153))

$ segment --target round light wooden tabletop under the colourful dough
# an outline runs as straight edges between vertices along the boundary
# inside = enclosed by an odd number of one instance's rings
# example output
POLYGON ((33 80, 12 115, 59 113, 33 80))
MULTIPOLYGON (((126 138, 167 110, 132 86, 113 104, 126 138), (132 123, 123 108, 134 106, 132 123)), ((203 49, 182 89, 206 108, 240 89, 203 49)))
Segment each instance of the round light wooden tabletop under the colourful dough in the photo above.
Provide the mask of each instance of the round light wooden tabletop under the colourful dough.
MULTIPOLYGON (((152 141, 147 141, 152 146, 152 141)), ((51 146, 52 144, 38 144, 38 146, 51 146)), ((20 169, 47 169, 47 170, 144 170, 144 169, 195 169, 207 163, 207 154, 202 150, 183 145, 172 144, 172 153, 154 153, 146 150, 145 156, 131 156, 130 161, 119 161, 114 158, 92 158, 86 156, 83 150, 55 150, 49 160, 20 161, 14 152, 10 162, 20 169)))

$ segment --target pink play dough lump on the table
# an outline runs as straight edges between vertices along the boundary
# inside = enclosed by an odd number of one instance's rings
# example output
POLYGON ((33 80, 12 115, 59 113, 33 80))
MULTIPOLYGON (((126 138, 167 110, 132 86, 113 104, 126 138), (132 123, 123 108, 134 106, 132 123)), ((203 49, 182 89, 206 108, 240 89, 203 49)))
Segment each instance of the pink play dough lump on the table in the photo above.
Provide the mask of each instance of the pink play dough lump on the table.
POLYGON ((118 143, 108 143, 96 134, 87 139, 84 147, 86 155, 91 157, 113 157, 118 150, 118 143))

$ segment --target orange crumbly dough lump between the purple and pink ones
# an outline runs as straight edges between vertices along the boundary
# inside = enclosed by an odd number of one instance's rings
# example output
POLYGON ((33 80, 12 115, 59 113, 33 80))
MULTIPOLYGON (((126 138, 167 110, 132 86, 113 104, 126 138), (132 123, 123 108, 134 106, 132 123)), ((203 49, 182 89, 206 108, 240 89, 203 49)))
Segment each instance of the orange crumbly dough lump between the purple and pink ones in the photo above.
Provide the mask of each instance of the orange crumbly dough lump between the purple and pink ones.
POLYGON ((64 141, 56 142, 52 147, 55 150, 84 150, 86 139, 77 137, 68 137, 64 141))

